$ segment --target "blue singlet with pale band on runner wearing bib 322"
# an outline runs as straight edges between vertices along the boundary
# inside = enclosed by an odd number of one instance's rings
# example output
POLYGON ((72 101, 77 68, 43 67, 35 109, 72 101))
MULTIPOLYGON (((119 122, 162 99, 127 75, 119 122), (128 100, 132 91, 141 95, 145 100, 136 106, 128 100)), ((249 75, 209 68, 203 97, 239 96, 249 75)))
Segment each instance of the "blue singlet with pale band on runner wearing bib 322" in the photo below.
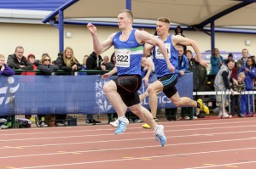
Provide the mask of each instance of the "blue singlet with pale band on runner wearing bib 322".
POLYGON ((121 75, 140 75, 143 57, 144 44, 139 44, 135 38, 135 31, 131 31, 127 41, 120 41, 122 31, 116 33, 113 37, 114 55, 116 58, 116 67, 118 76, 121 75))

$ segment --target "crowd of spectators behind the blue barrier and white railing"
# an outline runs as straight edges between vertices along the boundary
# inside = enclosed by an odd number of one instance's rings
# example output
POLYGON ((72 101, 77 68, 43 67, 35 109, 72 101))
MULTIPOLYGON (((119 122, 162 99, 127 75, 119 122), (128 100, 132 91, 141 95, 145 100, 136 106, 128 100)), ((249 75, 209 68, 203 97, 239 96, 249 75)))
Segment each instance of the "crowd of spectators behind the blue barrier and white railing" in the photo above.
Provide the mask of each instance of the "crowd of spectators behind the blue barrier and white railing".
MULTIPOLYGON (((183 29, 177 26, 175 30, 177 35, 183 35, 183 29)), ((234 91, 241 93, 243 91, 253 91, 255 87, 256 68, 255 57, 249 56, 246 48, 241 50, 241 59, 237 62, 233 59, 233 54, 229 54, 227 59, 224 59, 220 55, 218 48, 212 50, 212 56, 210 59, 211 70, 207 75, 207 69, 199 64, 198 57, 193 56, 192 51, 187 50, 185 47, 178 51, 178 64, 176 73, 178 76, 183 76, 186 72, 193 72, 194 92, 202 91, 230 91, 229 94, 221 94, 216 96, 210 96, 212 99, 216 99, 216 106, 219 109, 218 116, 221 118, 230 118, 238 115, 239 117, 253 116, 253 95, 250 94, 236 94, 234 91), (227 110, 227 105, 230 103, 230 111, 227 110)), ((152 56, 148 54, 147 60, 152 63, 152 56)), ((115 56, 112 54, 110 57, 107 55, 103 57, 92 52, 90 55, 84 55, 82 65, 79 64, 78 59, 75 58, 73 48, 67 47, 65 50, 58 54, 55 61, 51 59, 49 54, 42 54, 41 58, 36 58, 34 54, 28 54, 24 56, 24 48, 18 46, 15 48, 15 54, 10 54, 5 63, 5 57, 0 54, 0 76, 12 76, 15 75, 15 70, 22 71, 22 76, 34 76, 36 71, 27 70, 40 70, 40 75, 52 76, 55 75, 55 70, 65 70, 66 75, 76 76, 78 70, 113 70, 115 67, 115 56)), ((142 74, 145 74, 145 70, 142 68, 142 74)), ((153 67, 154 70, 154 67, 153 67)), ((96 75, 98 71, 84 72, 80 71, 79 76, 83 75, 96 75)), ((207 96, 195 95, 195 99, 203 99, 207 96)), ((215 104, 214 104, 215 107, 215 104)), ((89 125, 95 125, 101 123, 93 118, 94 115, 86 115, 85 123, 89 125)), ((26 119, 35 121, 32 115, 25 115, 26 119)), ((194 108, 182 108, 180 120, 193 120, 197 118, 204 118, 202 112, 194 108)), ((108 123, 116 120, 116 114, 111 113, 108 115, 108 123)), ((154 117, 156 118, 156 116, 154 117)), ((67 115, 55 115, 55 126, 65 126, 67 124, 67 115)), ((177 108, 166 109, 166 119, 168 121, 177 120, 177 108)), ((38 127, 48 127, 45 124, 45 115, 37 115, 38 127)), ((8 116, 0 116, 0 128, 5 128, 5 124, 9 122, 8 116)))

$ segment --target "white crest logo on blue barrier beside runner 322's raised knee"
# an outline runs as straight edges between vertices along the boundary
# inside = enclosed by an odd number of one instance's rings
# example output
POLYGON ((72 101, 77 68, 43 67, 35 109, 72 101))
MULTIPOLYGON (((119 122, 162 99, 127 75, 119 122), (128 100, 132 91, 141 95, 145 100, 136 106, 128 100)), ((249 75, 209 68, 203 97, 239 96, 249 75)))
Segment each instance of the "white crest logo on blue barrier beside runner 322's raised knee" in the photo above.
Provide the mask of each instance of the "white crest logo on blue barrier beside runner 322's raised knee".
POLYGON ((96 80, 96 104, 100 111, 106 112, 112 108, 107 96, 103 92, 102 88, 109 80, 96 80))

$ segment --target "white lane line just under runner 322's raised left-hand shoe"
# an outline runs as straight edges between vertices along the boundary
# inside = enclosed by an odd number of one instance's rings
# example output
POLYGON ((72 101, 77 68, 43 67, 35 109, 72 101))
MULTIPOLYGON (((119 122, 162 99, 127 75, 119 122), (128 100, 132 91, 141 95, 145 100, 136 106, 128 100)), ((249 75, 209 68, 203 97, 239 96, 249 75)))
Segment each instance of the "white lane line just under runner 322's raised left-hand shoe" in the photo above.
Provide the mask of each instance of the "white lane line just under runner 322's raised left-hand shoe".
MULTIPOLYGON (((228 128, 241 128, 241 127, 256 127, 256 125, 247 125, 247 126, 233 126, 233 127, 211 127, 211 128, 189 128, 189 129, 178 129, 178 130, 165 130, 165 132, 186 132, 186 131, 200 131, 200 130, 214 130, 214 129, 228 129, 228 128)), ((129 128, 130 130, 130 128, 129 128)), ((144 129, 146 131, 146 129, 144 129)), ((125 132, 125 134, 142 134, 142 133, 153 133, 150 132, 125 132)), ((83 137, 101 137, 101 136, 113 136, 113 133, 108 134, 85 134, 85 135, 74 135, 74 136, 61 136, 61 137, 47 137, 47 138, 16 138, 16 139, 1 139, 0 142, 11 142, 11 141, 26 141, 26 140, 41 140, 41 139, 57 139, 57 138, 83 138, 83 137)))

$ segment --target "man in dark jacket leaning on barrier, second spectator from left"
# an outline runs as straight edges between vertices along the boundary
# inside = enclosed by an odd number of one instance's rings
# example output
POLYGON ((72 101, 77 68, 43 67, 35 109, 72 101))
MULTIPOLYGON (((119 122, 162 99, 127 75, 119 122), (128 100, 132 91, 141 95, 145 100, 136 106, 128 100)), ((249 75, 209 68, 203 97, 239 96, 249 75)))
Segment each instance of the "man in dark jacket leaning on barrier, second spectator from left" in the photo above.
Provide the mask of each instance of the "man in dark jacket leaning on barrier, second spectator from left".
POLYGON ((10 54, 7 59, 7 65, 15 70, 33 70, 32 64, 23 56, 24 48, 18 46, 15 48, 15 54, 10 54))

